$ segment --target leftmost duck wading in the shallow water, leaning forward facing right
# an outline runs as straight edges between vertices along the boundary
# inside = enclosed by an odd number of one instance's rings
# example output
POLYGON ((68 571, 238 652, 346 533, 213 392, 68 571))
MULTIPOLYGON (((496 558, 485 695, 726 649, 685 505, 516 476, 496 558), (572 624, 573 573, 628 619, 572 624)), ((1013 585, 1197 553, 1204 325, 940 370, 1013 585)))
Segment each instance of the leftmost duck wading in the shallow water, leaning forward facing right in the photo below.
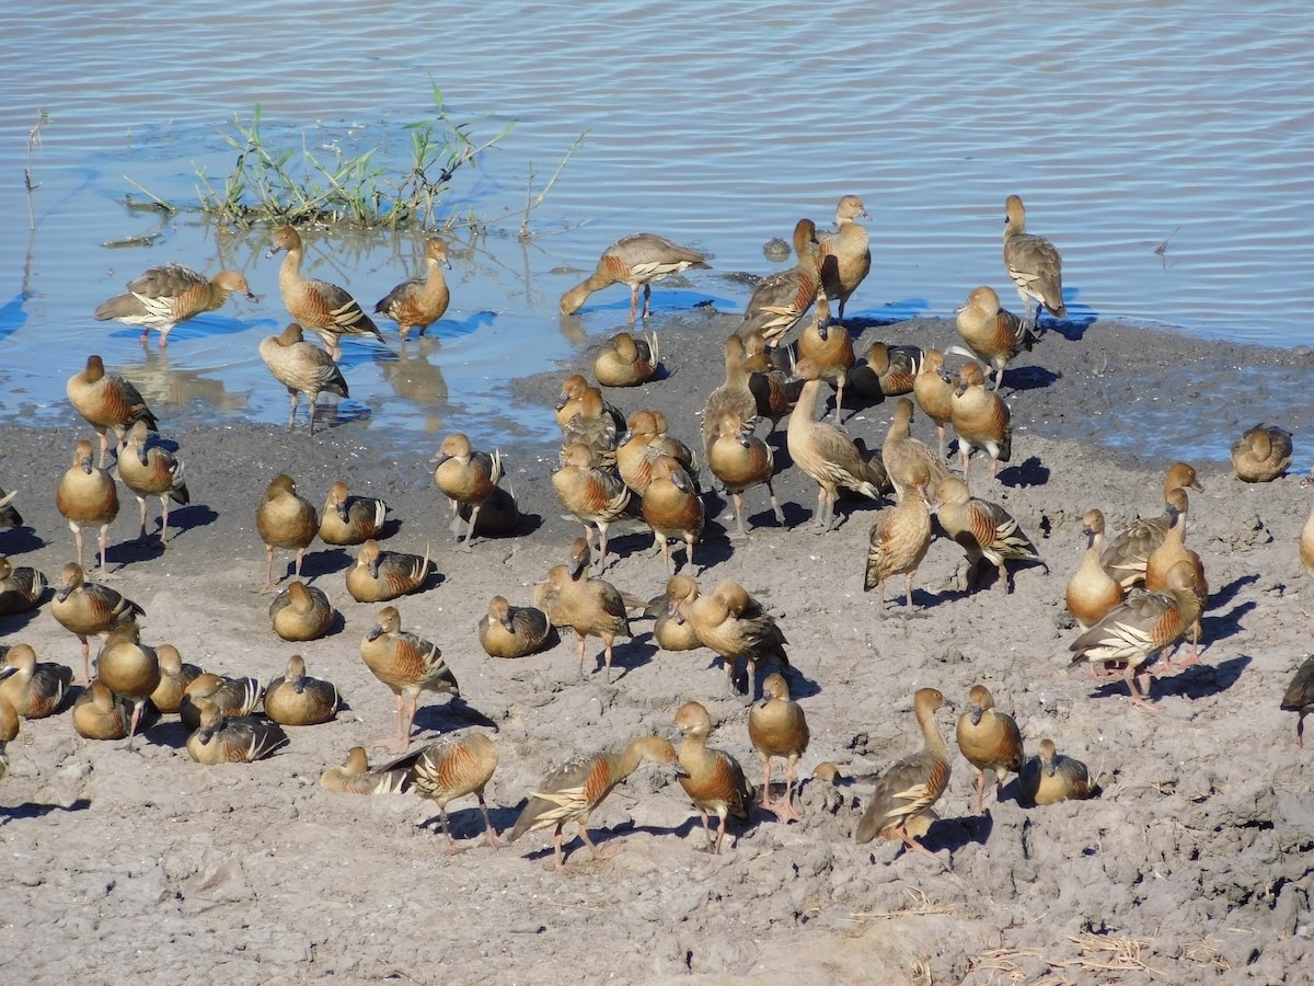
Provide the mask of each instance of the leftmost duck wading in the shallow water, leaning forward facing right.
POLYGON ((151 329, 160 334, 160 348, 168 346, 168 334, 180 322, 217 312, 229 294, 240 294, 247 301, 259 301, 251 285, 237 271, 219 271, 206 277, 179 263, 150 267, 139 277, 127 283, 126 294, 116 294, 96 306, 99 322, 110 319, 124 325, 142 326, 142 346, 151 329))

